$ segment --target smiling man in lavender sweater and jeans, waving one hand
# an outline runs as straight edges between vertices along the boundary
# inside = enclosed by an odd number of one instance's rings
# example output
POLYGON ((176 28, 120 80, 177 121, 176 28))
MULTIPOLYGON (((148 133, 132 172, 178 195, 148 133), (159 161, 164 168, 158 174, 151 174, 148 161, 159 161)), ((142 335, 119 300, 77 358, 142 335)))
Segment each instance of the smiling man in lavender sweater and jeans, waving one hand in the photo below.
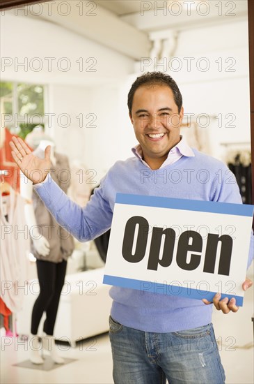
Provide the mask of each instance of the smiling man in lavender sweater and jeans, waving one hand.
MULTIPOLYGON (((117 192, 241 203, 237 184, 225 183, 228 168, 191 149, 181 138, 182 95, 170 76, 146 73, 138 77, 129 91, 128 107, 139 142, 132 149, 134 157, 113 165, 85 208, 71 202, 47 175, 49 147, 41 160, 22 140, 14 138, 10 144, 22 172, 33 181, 58 223, 68 226, 72 235, 86 241, 108 230, 117 192), (174 169, 180 172, 180 181, 159 177, 174 169), (209 172, 207 182, 197 181, 201 169, 209 172)), ((252 255, 253 239, 248 265, 252 255)), ((251 282, 245 281, 243 288, 248 286, 251 282)), ((111 288, 110 295, 115 383, 159 384, 166 383, 166 378, 170 384, 224 383, 209 302, 119 287, 111 288)), ((220 300, 219 295, 214 297, 214 305, 223 313, 238 309, 235 299, 220 300)))

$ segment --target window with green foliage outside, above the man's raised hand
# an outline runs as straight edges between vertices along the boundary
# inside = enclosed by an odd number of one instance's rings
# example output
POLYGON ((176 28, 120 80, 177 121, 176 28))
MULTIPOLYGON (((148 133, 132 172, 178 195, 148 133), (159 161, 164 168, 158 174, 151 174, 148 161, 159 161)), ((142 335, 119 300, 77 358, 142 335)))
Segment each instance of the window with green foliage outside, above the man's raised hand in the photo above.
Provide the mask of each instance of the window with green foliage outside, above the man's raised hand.
POLYGON ((45 86, 1 82, 1 126, 25 138, 35 126, 45 128, 45 86))

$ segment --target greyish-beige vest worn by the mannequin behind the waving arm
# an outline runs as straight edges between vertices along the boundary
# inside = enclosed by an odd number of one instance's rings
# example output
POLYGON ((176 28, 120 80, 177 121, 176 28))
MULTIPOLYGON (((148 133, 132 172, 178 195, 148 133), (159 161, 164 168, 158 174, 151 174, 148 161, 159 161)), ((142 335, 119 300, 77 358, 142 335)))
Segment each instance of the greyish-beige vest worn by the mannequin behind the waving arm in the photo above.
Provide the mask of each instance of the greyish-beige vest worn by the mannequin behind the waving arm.
MULTIPOLYGON (((44 157, 44 153, 40 149, 35 149, 33 153, 38 157, 44 157)), ((70 186, 71 178, 68 157, 55 153, 55 158, 56 165, 51 163, 51 177, 66 193, 68 187, 70 186)), ((33 191, 33 207, 35 211, 36 223, 39 226, 38 229, 40 230, 40 234, 48 240, 50 253, 46 257, 41 256, 35 250, 33 244, 31 246, 31 252, 35 258, 39 260, 51 261, 52 263, 61 263, 61 261, 67 260, 74 249, 73 237, 68 232, 68 228, 65 230, 65 228, 61 228, 61 226, 56 223, 55 219, 51 216, 35 191, 33 191)))

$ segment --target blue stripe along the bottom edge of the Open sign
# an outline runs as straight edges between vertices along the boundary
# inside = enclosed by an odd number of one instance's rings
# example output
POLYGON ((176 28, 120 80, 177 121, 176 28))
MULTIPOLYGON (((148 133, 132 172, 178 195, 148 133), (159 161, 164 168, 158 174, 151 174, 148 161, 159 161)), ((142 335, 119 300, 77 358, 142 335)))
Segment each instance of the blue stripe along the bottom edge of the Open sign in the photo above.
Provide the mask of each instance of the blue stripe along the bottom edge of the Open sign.
MULTIPOLYGON (((136 290, 141 290, 145 292, 151 293, 159 293, 161 295, 173 295, 173 296, 184 296, 189 297, 190 299, 207 299, 209 302, 212 302, 214 295, 216 292, 208 292, 207 290, 197 290, 193 288, 185 288, 182 286, 170 286, 163 283, 157 283, 157 281, 144 281, 144 280, 135 280, 135 279, 127 279, 126 277, 118 277, 118 276, 110 276, 108 274, 104 274, 103 278, 104 284, 109 284, 110 286, 119 286, 122 288, 132 288, 136 290)), ((236 295, 226 295, 223 293, 221 295, 221 299, 223 297, 228 297, 230 300, 232 297, 235 297, 238 306, 243 305, 244 297, 236 296, 236 295)))

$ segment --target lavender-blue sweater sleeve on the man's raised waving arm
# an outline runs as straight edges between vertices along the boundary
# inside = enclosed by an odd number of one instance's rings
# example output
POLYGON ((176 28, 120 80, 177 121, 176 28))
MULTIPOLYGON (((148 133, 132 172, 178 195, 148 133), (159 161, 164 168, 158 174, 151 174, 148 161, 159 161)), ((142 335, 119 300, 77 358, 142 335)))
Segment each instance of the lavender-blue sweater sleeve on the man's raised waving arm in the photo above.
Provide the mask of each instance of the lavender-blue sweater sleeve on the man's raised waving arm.
POLYGON ((79 241, 86 242, 111 227, 113 213, 104 198, 104 179, 86 207, 80 207, 68 198, 50 175, 47 175, 45 182, 35 184, 34 189, 58 224, 79 241))

